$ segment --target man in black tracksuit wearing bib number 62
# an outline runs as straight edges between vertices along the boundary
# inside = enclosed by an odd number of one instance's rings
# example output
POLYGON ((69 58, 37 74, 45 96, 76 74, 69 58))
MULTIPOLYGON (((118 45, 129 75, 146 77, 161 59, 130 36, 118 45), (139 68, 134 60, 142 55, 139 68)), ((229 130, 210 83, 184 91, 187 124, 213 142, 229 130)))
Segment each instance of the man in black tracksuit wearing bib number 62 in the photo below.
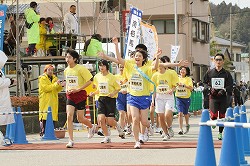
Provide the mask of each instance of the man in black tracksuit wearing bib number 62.
MULTIPOLYGON (((225 118, 229 107, 232 91, 233 78, 229 71, 223 68, 224 55, 218 53, 214 56, 215 68, 208 70, 204 75, 205 89, 209 89, 209 109, 212 120, 225 118)), ((222 140, 224 127, 219 127, 218 139, 222 140)))

